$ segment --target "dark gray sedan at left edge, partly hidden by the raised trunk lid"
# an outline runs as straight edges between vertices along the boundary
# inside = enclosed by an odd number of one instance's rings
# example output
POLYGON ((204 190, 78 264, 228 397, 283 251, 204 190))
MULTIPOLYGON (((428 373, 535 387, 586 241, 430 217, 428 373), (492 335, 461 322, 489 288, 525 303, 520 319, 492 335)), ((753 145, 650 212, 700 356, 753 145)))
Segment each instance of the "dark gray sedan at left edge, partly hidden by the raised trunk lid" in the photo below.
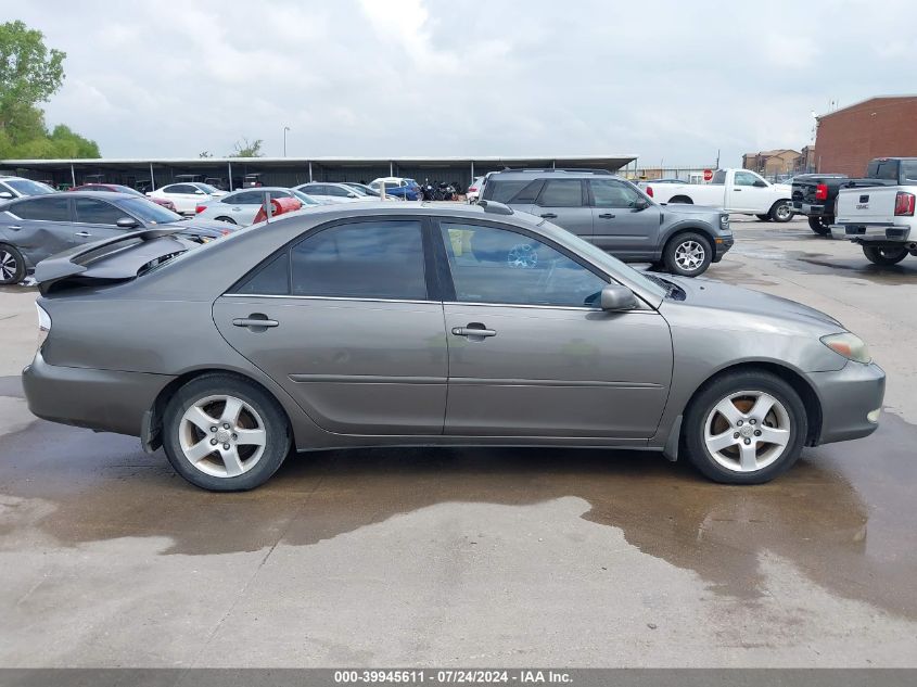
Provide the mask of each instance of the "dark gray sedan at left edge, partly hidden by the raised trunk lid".
POLYGON ((44 258, 139 228, 175 228, 198 241, 233 228, 186 220, 153 201, 128 193, 73 191, 33 195, 0 204, 0 284, 15 284, 44 258))

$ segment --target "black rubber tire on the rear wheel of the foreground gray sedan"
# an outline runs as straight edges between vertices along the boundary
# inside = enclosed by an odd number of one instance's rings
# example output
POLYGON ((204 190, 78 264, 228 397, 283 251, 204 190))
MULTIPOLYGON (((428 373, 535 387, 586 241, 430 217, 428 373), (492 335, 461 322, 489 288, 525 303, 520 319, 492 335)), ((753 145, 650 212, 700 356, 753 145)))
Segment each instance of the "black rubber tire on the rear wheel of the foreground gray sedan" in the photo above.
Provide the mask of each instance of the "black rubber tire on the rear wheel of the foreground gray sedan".
MULTIPOLYGON (((207 408, 207 415, 213 418, 216 418, 216 414, 220 412, 220 405, 224 410, 226 409, 226 403, 218 398, 211 404, 205 405, 204 408, 207 408), (213 409, 211 410, 211 408, 213 409)), ((209 431, 214 430, 211 429, 209 431)), ((280 468, 283 459, 290 453, 290 423, 277 399, 256 384, 233 374, 205 374, 191 380, 169 399, 163 414, 163 448, 171 467, 194 486, 212 492, 243 492, 260 486, 280 468), (224 429, 225 425, 217 422, 217 431, 213 436, 219 437, 219 440, 207 440, 206 437, 211 434, 199 427, 192 427, 184 422, 183 416, 195 404, 221 395, 239 399, 247 408, 243 406, 242 411, 238 414, 238 420, 229 429, 224 429), (254 412, 251 412, 252 410, 254 412), (263 427, 259 427, 259 424, 263 427), (233 430, 237 429, 240 434, 245 429, 264 430, 264 448, 259 457, 255 457, 258 451, 257 446, 247 445, 243 441, 235 443, 237 434, 233 430), (194 433, 196 436, 189 437, 188 433, 194 433), (225 444, 225 446, 231 446, 237 451, 235 455, 241 458, 239 466, 243 471, 240 474, 219 475, 207 472, 208 470, 229 471, 229 462, 217 453, 220 450, 219 444, 213 449, 213 454, 196 463, 192 463, 191 459, 187 457, 181 445, 183 441, 196 445, 198 443, 212 444, 214 441, 224 440, 232 441, 231 445, 225 444), (245 456, 247 456, 247 459, 245 456), (246 467, 246 462, 253 459, 253 465, 246 467)), ((206 447, 204 446, 204 448, 206 447)))

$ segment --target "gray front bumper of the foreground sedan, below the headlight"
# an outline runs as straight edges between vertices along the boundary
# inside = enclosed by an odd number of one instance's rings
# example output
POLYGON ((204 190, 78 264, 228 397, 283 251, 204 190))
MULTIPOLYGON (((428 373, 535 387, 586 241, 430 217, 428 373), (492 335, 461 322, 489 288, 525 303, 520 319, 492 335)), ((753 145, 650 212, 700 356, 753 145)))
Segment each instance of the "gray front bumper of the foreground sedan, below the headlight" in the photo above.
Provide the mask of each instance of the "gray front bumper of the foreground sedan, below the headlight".
POLYGON ((866 416, 882 407, 882 368, 875 362, 850 361, 835 372, 810 372, 806 377, 822 402, 822 431, 816 444, 845 442, 876 431, 878 423, 866 416))

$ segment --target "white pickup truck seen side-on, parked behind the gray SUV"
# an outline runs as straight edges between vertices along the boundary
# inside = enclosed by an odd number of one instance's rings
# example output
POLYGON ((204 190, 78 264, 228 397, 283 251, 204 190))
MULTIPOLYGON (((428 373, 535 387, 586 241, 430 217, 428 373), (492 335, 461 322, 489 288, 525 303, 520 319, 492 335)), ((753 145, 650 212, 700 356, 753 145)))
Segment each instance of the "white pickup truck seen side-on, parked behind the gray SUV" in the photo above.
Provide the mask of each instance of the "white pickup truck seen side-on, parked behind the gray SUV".
POLYGON ((769 183, 748 169, 717 169, 710 183, 641 181, 639 186, 657 203, 708 205, 727 213, 754 215, 762 221, 793 218, 792 187, 769 183))

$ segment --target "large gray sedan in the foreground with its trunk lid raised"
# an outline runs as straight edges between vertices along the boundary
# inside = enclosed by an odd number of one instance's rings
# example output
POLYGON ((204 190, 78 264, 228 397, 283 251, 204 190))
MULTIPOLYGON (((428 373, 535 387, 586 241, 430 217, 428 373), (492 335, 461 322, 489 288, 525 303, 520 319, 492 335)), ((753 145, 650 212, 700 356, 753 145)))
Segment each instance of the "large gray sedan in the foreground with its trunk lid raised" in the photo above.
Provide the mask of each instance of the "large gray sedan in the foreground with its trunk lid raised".
POLYGON ((647 276, 493 202, 320 207, 193 247, 136 232, 36 277, 31 411, 215 491, 291 446, 406 444, 650 449, 755 484, 874 432, 884 390, 828 315, 647 276))

